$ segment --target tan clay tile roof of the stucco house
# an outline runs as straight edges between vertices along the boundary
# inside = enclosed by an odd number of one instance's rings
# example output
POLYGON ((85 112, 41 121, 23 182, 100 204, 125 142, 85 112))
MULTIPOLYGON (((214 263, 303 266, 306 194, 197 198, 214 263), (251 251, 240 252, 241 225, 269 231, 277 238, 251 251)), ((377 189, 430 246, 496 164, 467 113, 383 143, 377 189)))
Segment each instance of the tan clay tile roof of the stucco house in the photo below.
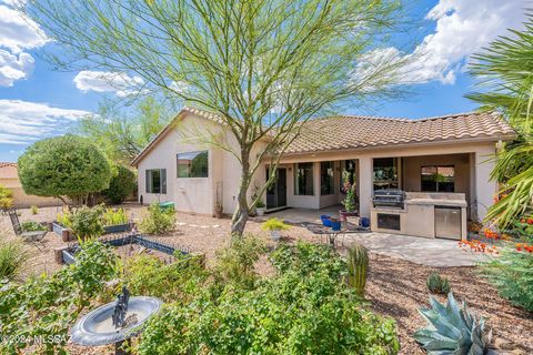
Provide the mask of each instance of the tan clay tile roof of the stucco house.
MULTIPOLYGON (((222 123, 214 113, 183 108, 131 164, 137 165, 173 128, 173 123, 188 113, 222 123)), ((494 112, 457 113, 420 120, 335 115, 305 122, 300 135, 285 150, 285 154, 410 143, 499 141, 512 140, 514 136, 513 129, 494 112)))

